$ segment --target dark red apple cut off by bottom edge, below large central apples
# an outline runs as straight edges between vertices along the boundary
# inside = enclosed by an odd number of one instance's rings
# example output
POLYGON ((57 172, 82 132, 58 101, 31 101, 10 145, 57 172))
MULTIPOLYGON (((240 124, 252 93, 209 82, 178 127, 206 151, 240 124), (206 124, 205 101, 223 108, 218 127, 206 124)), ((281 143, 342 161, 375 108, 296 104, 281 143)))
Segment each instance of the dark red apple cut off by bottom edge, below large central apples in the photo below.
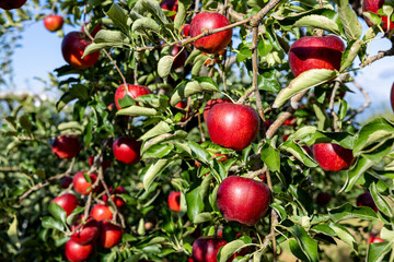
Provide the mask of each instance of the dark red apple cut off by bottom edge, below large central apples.
POLYGON ((219 249, 227 243, 221 237, 199 237, 193 243, 193 259, 195 262, 217 262, 219 249))

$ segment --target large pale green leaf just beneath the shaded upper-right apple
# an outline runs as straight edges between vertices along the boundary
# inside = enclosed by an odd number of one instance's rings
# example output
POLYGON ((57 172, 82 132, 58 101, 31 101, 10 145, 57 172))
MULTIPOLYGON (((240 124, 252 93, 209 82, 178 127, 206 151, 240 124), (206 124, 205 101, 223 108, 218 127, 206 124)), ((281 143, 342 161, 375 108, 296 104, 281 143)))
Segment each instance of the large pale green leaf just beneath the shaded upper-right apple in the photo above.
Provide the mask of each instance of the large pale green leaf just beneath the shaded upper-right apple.
POLYGON ((327 69, 312 69, 293 79, 289 86, 281 90, 276 97, 273 108, 281 107, 288 99, 298 93, 321 85, 337 76, 337 71, 327 69))

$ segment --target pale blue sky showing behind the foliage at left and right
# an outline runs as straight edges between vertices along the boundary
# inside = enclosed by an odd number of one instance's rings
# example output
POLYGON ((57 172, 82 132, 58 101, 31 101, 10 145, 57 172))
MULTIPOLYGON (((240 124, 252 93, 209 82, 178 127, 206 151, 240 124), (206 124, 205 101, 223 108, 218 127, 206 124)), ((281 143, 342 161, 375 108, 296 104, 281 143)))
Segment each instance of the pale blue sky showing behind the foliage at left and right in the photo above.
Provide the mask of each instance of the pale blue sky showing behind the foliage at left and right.
MULTIPOLYGON (((360 22, 364 34, 368 27, 362 20, 360 22)), ((80 28, 66 25, 63 29, 67 34, 80 28)), ((20 44, 21 48, 16 49, 13 57, 14 81, 18 90, 43 93, 44 85, 34 78, 47 80, 48 72, 65 64, 60 51, 61 38, 56 33, 48 32, 44 27, 43 21, 39 21, 23 32, 20 44)), ((378 39, 370 44, 369 52, 373 56, 379 50, 386 50, 390 47, 390 40, 378 39)), ((356 76, 356 81, 368 92, 372 100, 369 109, 360 116, 361 119, 391 110, 389 99, 390 90, 394 82, 394 57, 384 58, 362 69, 356 76)), ((355 94, 348 93, 345 98, 354 108, 360 107, 364 103, 363 96, 351 84, 349 87, 355 91, 355 94)))

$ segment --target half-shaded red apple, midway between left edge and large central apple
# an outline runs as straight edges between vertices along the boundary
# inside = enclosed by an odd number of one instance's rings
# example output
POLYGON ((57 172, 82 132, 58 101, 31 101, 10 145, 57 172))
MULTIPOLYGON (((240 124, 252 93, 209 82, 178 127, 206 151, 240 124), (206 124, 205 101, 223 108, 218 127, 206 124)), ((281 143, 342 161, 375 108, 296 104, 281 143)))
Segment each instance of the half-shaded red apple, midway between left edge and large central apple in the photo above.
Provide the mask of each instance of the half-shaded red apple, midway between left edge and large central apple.
POLYGON ((117 160, 125 164, 137 164, 140 160, 141 142, 134 138, 119 136, 113 144, 113 153, 117 160))

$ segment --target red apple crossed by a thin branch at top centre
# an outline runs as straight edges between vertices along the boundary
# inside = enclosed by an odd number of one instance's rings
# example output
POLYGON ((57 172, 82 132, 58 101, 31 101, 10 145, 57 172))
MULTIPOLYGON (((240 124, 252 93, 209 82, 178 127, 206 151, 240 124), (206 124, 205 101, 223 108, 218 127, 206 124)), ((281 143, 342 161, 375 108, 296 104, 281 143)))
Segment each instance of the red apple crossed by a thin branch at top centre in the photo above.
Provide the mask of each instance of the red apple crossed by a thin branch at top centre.
MULTIPOLYGON (((215 29, 230 25, 230 21, 219 13, 199 13, 190 23, 190 36, 195 37, 202 29, 215 29)), ((201 51, 215 53, 223 50, 231 41, 232 29, 222 31, 213 35, 205 36, 195 41, 195 47, 201 51)))

